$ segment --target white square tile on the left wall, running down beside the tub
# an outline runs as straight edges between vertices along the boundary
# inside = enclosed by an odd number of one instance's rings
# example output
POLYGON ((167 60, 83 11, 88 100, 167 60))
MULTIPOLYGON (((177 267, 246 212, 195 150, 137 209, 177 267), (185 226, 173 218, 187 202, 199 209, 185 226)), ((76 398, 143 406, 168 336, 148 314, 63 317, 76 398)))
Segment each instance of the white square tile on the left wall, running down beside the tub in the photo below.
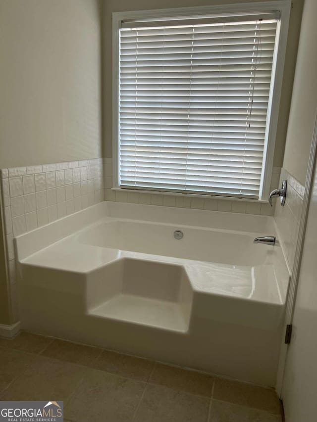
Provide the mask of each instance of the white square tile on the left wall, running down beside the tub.
POLYGON ((1 169, 11 309, 18 320, 13 237, 104 200, 102 158, 1 169))

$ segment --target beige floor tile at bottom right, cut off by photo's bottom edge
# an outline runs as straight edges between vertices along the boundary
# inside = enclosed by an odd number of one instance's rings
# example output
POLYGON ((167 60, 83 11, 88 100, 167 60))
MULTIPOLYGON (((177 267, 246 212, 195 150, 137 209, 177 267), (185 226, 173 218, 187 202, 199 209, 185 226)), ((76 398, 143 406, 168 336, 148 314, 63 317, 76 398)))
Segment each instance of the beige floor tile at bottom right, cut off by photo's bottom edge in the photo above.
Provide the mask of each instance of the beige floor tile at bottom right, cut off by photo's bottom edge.
POLYGON ((279 415, 262 410, 212 400, 208 422, 282 422, 279 415))

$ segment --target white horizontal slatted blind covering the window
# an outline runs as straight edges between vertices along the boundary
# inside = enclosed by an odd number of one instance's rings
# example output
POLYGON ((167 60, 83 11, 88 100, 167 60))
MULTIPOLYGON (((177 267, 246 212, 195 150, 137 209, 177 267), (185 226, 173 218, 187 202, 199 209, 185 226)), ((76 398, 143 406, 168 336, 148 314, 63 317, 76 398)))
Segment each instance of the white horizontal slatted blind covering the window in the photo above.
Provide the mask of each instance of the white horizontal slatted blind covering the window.
POLYGON ((259 197, 277 21, 120 29, 121 188, 259 197))

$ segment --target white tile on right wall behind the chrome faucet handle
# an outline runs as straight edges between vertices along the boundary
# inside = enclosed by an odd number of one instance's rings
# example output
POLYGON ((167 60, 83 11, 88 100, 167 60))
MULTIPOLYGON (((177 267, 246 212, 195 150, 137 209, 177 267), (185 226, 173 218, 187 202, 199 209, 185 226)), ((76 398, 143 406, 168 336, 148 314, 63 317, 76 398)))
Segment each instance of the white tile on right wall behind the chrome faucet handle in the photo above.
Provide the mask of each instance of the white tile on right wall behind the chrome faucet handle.
POLYGON ((285 205, 279 204, 276 200, 274 218, 279 234, 279 240, 282 243, 284 254, 292 271, 294 266, 295 250, 298 239, 299 224, 301 219, 305 187, 301 185, 284 168, 281 169, 280 183, 287 180, 287 193, 285 205))

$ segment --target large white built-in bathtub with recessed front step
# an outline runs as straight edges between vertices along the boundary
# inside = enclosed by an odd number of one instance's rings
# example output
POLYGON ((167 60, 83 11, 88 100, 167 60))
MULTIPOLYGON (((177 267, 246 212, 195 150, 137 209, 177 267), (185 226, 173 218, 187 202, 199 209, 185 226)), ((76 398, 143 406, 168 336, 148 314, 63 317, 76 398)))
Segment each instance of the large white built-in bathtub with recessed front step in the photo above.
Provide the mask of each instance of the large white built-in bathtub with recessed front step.
POLYGON ((266 216, 97 204, 15 239, 22 326, 274 386, 289 271, 253 239, 275 233, 266 216))

